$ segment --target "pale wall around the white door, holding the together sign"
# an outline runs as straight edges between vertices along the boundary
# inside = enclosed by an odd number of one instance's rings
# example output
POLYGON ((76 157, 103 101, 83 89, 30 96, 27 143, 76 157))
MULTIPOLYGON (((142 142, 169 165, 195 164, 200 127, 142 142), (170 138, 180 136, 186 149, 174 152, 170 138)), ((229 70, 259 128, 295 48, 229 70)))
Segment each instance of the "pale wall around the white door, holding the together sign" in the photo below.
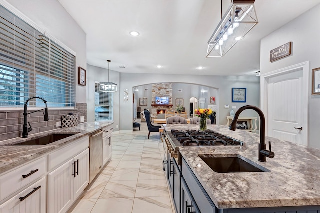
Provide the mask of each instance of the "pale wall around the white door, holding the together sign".
MULTIPOLYGON (((308 146, 320 148, 320 95, 311 95, 311 71, 320 67, 320 4, 261 40, 260 71, 265 74, 301 62, 310 62, 308 146), (292 54, 275 62, 269 61, 270 50, 289 41, 292 54)), ((261 91, 263 92, 263 91, 261 91)))

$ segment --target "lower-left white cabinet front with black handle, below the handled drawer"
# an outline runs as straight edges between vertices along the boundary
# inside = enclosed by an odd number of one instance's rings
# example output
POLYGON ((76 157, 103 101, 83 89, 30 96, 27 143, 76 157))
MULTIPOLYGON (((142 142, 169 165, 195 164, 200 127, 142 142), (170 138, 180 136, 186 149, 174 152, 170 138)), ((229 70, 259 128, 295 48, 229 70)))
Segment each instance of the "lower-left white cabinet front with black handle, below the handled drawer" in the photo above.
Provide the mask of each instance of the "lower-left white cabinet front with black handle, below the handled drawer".
POLYGON ((15 195, 0 206, 0 213, 46 212, 46 178, 43 177, 30 187, 15 195))

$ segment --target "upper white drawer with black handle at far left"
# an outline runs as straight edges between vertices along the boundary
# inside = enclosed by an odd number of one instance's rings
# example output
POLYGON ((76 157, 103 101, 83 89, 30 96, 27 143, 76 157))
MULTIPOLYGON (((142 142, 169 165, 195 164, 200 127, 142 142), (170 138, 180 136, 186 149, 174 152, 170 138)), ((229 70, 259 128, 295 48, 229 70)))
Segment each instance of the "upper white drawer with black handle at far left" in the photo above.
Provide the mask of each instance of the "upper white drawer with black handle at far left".
POLYGON ((0 177, 0 200, 23 188, 46 172, 45 157, 27 162, 0 177))

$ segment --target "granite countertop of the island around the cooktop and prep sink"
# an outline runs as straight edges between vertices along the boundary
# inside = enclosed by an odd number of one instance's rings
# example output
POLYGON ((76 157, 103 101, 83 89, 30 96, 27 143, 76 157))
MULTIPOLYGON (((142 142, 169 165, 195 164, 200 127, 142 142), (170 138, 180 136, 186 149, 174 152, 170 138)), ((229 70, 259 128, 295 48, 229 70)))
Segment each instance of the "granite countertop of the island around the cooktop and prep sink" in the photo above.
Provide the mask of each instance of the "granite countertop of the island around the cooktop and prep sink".
MULTIPOLYGON (((163 125, 165 130, 196 129, 197 125, 163 125)), ((225 126, 209 129, 245 142, 235 146, 179 147, 180 154, 218 208, 252 208, 320 205, 320 150, 266 137, 271 141, 273 159, 258 161, 259 134, 225 126), (200 154, 239 154, 270 172, 217 173, 200 154)), ((268 149, 268 145, 267 145, 268 149)))

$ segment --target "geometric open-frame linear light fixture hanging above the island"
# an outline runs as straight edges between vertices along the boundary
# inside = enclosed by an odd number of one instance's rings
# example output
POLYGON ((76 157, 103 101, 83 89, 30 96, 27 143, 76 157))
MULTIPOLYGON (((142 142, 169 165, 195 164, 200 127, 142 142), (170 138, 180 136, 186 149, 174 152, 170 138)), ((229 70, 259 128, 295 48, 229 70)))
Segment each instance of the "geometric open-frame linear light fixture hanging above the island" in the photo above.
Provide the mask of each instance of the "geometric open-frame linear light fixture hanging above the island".
POLYGON ((258 23, 254 1, 233 0, 208 41, 206 57, 222 57, 258 23))

